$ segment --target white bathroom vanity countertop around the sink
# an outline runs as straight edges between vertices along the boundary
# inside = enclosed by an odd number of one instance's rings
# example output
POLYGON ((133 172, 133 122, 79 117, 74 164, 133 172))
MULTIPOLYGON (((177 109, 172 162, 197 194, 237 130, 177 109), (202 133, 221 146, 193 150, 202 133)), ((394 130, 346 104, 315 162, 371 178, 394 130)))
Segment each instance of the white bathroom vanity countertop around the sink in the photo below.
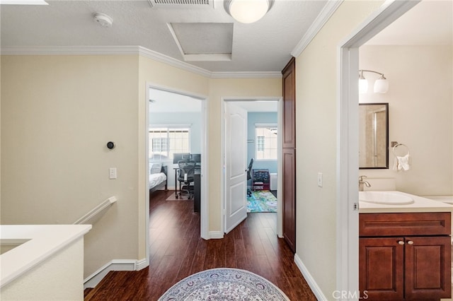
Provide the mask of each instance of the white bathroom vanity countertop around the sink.
POLYGON ((414 202, 406 205, 389 205, 359 201, 359 213, 404 213, 404 212, 452 212, 453 206, 441 201, 426 199, 422 196, 406 194, 401 191, 389 191, 411 197, 414 202))

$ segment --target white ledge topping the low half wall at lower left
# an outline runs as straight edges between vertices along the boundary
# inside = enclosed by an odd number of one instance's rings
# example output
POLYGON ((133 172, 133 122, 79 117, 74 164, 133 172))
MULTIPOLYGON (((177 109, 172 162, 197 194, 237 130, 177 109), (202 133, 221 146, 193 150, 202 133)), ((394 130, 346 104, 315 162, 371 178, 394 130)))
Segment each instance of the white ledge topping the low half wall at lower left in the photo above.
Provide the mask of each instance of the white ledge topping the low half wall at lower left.
POLYGON ((0 255, 0 286, 83 237, 91 225, 0 225, 0 242, 23 242, 0 255))

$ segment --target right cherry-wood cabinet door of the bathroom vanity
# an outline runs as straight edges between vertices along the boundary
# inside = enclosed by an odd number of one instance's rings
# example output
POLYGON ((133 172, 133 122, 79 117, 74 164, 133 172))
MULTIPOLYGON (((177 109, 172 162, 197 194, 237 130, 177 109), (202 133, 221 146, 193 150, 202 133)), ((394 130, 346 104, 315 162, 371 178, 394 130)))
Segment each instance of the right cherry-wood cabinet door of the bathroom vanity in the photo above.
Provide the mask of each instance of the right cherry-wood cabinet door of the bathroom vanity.
POLYGON ((406 237, 406 299, 451 295, 451 237, 406 237))

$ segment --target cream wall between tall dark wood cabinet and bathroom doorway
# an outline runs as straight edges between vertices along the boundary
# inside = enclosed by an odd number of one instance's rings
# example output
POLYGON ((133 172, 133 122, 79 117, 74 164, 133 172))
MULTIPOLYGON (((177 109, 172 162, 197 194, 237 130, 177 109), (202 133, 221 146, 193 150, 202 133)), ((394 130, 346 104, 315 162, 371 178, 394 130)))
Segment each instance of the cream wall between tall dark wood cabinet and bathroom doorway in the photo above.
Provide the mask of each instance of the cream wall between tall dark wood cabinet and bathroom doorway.
POLYGON ((296 60, 297 256, 323 295, 336 290, 338 45, 382 1, 345 1, 296 60), (323 172, 323 187, 317 174, 323 172))

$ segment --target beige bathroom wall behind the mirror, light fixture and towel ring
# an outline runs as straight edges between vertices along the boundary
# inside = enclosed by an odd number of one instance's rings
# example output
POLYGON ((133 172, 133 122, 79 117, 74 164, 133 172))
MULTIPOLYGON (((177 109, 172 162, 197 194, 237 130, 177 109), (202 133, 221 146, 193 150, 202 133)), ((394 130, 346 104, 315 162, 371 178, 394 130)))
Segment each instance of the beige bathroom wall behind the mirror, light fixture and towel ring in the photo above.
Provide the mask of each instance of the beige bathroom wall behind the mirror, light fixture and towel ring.
POLYGON ((360 175, 394 178, 411 194, 453 195, 452 57, 451 45, 360 47, 360 69, 385 73, 390 83, 388 93, 369 91, 360 102, 389 102, 389 141, 404 143, 412 157, 411 170, 397 172, 390 148, 389 170, 360 175))

